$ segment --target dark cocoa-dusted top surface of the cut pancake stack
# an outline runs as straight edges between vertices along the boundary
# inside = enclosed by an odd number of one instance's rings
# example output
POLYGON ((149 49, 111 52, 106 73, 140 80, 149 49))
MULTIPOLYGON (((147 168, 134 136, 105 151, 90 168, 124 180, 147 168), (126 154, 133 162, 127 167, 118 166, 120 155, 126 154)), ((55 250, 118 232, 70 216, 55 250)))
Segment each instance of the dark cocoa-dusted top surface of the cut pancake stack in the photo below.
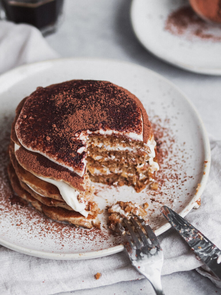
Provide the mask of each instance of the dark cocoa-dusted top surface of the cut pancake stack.
POLYGON ((77 152, 85 146, 80 135, 108 129, 138 135, 143 131, 145 142, 151 136, 141 102, 120 86, 95 80, 38 87, 25 101, 15 124, 22 145, 72 167, 79 175, 84 174, 86 156, 85 151, 77 152))

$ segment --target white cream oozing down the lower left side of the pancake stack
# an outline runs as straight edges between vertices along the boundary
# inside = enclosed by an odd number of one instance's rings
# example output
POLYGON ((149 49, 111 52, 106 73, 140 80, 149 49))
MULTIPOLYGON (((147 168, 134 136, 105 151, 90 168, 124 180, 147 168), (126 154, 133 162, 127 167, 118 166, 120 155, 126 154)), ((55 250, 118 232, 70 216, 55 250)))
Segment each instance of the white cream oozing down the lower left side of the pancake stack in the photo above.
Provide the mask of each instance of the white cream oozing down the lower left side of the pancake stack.
MULTIPOLYGON (((16 150, 19 149, 19 145, 17 145, 15 143, 14 149, 16 152, 16 150)), ((83 216, 85 216, 85 217, 88 216, 88 212, 85 210, 86 204, 80 203, 77 199, 77 197, 79 196, 79 191, 76 191, 74 188, 72 188, 70 185, 68 185, 64 181, 58 181, 55 179, 45 178, 45 177, 41 177, 41 176, 37 176, 37 175, 35 175, 35 176, 40 178, 41 180, 44 180, 46 182, 52 183, 55 186, 57 186, 62 198, 65 200, 67 205, 69 205, 73 210, 75 210, 76 212, 79 212, 83 216)))

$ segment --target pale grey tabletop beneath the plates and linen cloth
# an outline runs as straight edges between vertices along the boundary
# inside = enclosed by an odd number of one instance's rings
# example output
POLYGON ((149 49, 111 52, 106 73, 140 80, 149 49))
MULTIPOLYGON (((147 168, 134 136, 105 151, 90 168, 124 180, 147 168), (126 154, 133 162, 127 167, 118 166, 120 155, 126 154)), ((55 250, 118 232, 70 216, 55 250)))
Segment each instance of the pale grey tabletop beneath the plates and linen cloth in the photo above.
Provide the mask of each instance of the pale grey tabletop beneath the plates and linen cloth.
MULTIPOLYGON (((61 57, 125 60, 163 75, 189 97, 201 115, 207 132, 220 140, 221 77, 187 72, 154 57, 133 34, 130 5, 130 0, 66 0, 59 30, 46 36, 46 40, 61 57)), ((220 289, 195 270, 163 276, 162 285, 166 294, 221 294, 220 289)), ((146 279, 59 294, 71 293, 154 294, 146 279)))

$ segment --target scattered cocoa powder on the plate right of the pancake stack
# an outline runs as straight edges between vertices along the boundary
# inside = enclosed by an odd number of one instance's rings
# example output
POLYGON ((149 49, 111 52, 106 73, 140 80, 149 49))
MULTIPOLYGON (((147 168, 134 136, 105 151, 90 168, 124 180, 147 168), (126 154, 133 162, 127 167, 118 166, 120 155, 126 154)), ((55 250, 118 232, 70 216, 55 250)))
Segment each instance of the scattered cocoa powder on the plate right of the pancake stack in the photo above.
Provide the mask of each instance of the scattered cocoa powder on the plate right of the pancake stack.
MULTIPOLYGON (((184 189, 184 183, 188 183, 189 180, 194 178, 192 175, 188 175, 184 169, 186 161, 192 158, 192 155, 188 155, 185 150, 186 142, 177 144, 176 135, 170 128, 170 118, 162 120, 158 115, 155 115, 154 110, 150 110, 149 115, 157 143, 160 170, 155 175, 158 187, 156 190, 151 189, 152 185, 147 187, 145 200, 151 201, 152 209, 148 208, 147 211, 149 217, 154 213, 156 222, 157 219, 162 219, 158 212, 163 204, 174 207, 174 205, 177 206, 176 202, 183 203, 179 198, 181 197, 183 200, 185 196, 188 197, 189 195, 187 189, 184 189), (176 196, 175 203, 174 196, 176 196)), ((183 207, 184 205, 181 204, 180 206, 183 207)))

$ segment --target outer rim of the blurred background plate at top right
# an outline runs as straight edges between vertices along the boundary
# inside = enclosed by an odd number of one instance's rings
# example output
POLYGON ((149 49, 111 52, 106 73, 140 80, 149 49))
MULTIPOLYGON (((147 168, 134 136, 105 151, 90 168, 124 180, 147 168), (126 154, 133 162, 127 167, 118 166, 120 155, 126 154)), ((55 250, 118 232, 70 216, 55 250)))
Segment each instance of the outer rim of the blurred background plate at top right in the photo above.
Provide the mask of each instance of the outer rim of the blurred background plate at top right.
POLYGON ((130 20, 131 20, 131 25, 132 25, 134 35, 136 36, 137 40, 141 43, 141 45, 146 50, 148 50, 151 54, 153 54, 157 58, 160 58, 164 62, 169 63, 170 65, 173 65, 175 67, 178 67, 178 68, 186 70, 186 71, 201 74, 201 75, 211 75, 211 76, 220 76, 221 75, 221 67, 220 68, 205 68, 205 67, 192 66, 191 64, 185 64, 182 62, 177 63, 177 61, 173 60, 173 58, 171 58, 171 59, 165 58, 163 54, 161 54, 159 52, 156 53, 154 48, 152 48, 151 46, 148 46, 146 44, 146 41, 144 40, 144 38, 142 37, 142 35, 136 29, 136 26, 135 26, 134 6, 137 4, 138 1, 140 1, 140 0, 132 0, 132 2, 131 2, 130 20))

